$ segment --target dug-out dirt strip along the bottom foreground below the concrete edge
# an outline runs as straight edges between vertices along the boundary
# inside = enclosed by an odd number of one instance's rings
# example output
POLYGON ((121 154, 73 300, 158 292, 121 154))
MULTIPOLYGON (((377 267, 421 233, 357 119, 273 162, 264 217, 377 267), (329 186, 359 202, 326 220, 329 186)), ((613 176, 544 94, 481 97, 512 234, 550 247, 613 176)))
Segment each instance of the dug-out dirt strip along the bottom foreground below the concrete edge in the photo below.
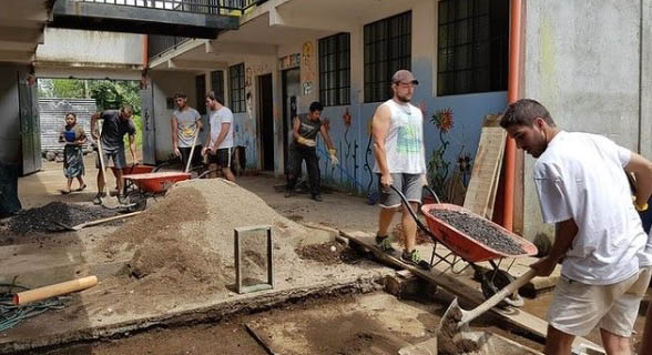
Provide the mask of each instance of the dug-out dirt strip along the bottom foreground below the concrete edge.
MULTIPOLYGON (((397 301, 385 293, 300 300, 283 307, 242 315, 218 324, 157 328, 93 344, 79 344, 47 355, 121 354, 396 354, 435 335, 445 310, 428 300, 397 301), (247 327, 249 331, 247 331, 247 327), (256 343, 251 333, 261 338, 256 343), (228 339, 218 341, 216 339, 228 339)), ((479 323, 496 333, 540 351, 542 345, 509 331, 479 323)))

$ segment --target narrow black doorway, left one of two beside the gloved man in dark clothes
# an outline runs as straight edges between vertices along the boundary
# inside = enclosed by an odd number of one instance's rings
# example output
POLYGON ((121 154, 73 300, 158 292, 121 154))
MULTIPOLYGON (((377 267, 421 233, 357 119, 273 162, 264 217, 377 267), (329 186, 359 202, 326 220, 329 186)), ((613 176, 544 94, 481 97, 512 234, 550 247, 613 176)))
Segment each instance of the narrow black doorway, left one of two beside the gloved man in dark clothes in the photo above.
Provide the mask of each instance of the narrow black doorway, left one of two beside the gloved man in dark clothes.
POLYGON ((261 168, 274 171, 274 99, 272 74, 258 77, 258 142, 261 168))

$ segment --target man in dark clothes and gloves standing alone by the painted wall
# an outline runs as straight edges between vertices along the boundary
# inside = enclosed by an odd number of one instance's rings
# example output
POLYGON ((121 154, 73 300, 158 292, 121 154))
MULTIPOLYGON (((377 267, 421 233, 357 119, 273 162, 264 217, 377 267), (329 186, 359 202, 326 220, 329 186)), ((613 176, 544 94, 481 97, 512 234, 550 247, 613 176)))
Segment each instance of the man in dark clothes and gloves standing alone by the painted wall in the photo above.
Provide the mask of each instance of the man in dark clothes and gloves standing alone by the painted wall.
POLYGON ((293 120, 292 124, 292 143, 289 143, 289 164, 287 166, 287 191, 286 197, 294 193, 294 186, 298 176, 302 173, 302 163, 306 161, 306 170, 308 171, 308 181, 310 182, 310 197, 317 202, 322 202, 322 194, 319 193, 319 162, 317 160, 317 133, 322 133, 328 153, 330 155, 330 164, 337 165, 339 161, 335 156, 335 145, 328 134, 326 126, 322 124, 322 111, 324 106, 318 101, 310 103, 309 113, 299 114, 293 120))

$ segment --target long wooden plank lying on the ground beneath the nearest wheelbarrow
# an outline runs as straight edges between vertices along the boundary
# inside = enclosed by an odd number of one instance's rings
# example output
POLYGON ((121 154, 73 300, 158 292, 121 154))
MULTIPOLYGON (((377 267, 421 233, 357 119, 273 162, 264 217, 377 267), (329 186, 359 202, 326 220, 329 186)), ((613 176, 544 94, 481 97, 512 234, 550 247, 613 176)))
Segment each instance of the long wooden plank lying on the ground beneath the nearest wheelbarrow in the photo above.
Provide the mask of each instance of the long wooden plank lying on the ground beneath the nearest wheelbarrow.
MULTIPOLYGON (((365 232, 352 232, 352 233, 342 232, 342 235, 349 240, 349 245, 352 245, 352 243, 355 243, 358 246, 371 252, 378 260, 380 260, 389 265, 393 265, 393 266, 399 266, 403 268, 407 268, 410 272, 412 272, 415 275, 426 280, 427 282, 431 282, 434 284, 437 284, 438 286, 444 287, 446 291, 450 292, 451 294, 458 296, 459 298, 461 298, 461 300, 463 300, 475 306, 485 302, 483 296, 481 295, 481 293, 478 290, 476 290, 473 287, 469 287, 468 284, 460 282, 458 278, 452 277, 451 275, 437 273, 437 272, 431 273, 431 272, 418 268, 416 266, 405 264, 401 261, 399 261, 397 257, 394 257, 387 253, 384 253, 374 243, 374 240, 373 240, 374 235, 371 235, 371 234, 368 234, 365 232)), ((513 307, 509 307, 508 310, 500 310, 500 308, 493 307, 493 308, 491 308, 491 312, 501 316, 502 318, 505 318, 509 323, 511 323, 516 326, 519 326, 521 328, 524 328, 529 332, 532 332, 539 336, 544 337, 547 334, 548 322, 546 322, 546 321, 543 321, 532 314, 529 314, 527 312, 523 312, 521 310, 513 308, 513 307)), ((578 346, 578 347, 583 346, 585 348, 595 349, 598 352, 604 352, 600 345, 592 343, 583 337, 575 337, 575 341, 573 342, 573 346, 578 346)))

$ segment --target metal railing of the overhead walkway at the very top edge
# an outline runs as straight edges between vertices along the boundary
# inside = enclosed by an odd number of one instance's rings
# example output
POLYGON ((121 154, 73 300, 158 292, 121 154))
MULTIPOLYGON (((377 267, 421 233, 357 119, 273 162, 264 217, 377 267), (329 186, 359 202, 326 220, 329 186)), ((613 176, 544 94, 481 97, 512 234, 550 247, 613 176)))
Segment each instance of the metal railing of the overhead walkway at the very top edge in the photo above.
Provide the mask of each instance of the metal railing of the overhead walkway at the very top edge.
POLYGON ((169 11, 241 16, 247 9, 265 1, 259 0, 77 0, 134 8, 169 11))

